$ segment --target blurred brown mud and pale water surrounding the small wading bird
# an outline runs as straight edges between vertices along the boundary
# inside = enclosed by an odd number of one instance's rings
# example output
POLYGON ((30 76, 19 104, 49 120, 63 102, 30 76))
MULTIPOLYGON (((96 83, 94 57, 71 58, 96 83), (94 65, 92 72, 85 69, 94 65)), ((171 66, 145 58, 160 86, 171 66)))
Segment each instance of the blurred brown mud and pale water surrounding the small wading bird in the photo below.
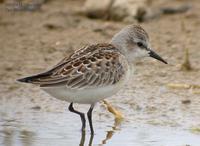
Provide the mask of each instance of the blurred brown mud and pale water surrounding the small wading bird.
POLYGON ((199 146, 199 10, 199 0, 0 0, 0 146, 199 146), (98 103, 93 137, 69 103, 16 82, 129 24, 169 64, 138 62, 130 84, 107 99, 124 119, 98 103))

